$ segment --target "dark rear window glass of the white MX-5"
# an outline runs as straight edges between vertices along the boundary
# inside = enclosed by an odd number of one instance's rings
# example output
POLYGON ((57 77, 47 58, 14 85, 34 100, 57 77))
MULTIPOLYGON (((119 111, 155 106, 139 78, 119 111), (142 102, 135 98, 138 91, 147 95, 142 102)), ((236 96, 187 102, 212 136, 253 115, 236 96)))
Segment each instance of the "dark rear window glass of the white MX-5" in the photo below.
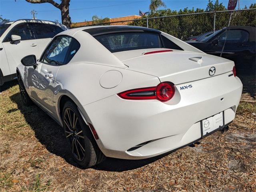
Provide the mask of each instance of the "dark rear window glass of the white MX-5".
POLYGON ((159 34, 150 32, 120 32, 94 37, 112 53, 163 47, 159 34))

